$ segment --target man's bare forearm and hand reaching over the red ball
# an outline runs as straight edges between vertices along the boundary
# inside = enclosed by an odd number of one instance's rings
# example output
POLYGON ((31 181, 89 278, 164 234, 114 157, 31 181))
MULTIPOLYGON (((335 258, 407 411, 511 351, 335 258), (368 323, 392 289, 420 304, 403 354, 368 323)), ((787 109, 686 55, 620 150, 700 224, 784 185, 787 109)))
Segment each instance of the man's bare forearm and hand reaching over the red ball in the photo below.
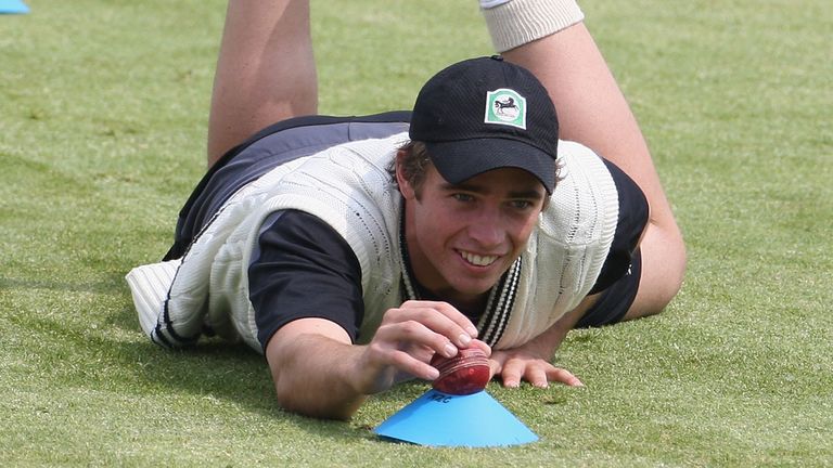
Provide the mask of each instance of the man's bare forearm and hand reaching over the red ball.
POLYGON ((389 389, 402 378, 434 380, 428 363, 458 349, 479 347, 477 329, 445 302, 408 301, 388 310, 373 339, 351 344, 347 333, 323 318, 299 318, 267 342, 266 359, 282 407, 307 416, 346 419, 367 395, 389 389))

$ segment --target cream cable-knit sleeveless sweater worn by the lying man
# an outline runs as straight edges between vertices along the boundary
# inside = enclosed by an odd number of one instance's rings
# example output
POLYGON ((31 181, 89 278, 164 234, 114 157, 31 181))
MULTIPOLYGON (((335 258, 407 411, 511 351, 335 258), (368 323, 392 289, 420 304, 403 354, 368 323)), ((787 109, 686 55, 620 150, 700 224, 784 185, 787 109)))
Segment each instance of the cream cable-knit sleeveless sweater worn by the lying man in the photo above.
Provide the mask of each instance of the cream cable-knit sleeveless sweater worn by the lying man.
MULTIPOLYGON (((286 162, 238 191, 181 259, 127 275, 144 333, 162 346, 195 342, 204 327, 262 352, 248 299, 247 271, 260 225, 296 209, 331 225, 361 266, 369 340, 386 310, 402 302, 401 198, 386 171, 407 133, 345 143, 286 162)), ((496 349, 517 347, 573 310, 592 288, 616 230, 618 195, 603 161, 588 147, 561 141, 563 169, 533 232, 496 349)), ((310 291, 310 294, 315 294, 310 291)), ((503 300, 500 296, 496 300, 503 300)), ((482 330, 485 333, 487 330, 482 330)))

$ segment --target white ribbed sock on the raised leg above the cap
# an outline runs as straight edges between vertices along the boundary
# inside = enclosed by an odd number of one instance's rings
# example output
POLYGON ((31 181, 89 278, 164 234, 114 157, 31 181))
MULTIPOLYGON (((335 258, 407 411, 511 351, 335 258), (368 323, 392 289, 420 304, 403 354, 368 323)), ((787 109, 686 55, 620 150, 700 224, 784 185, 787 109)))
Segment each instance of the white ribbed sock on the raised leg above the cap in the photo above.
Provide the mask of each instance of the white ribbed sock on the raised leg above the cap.
POLYGON ((479 0, 497 52, 555 34, 585 14, 575 0, 479 0))

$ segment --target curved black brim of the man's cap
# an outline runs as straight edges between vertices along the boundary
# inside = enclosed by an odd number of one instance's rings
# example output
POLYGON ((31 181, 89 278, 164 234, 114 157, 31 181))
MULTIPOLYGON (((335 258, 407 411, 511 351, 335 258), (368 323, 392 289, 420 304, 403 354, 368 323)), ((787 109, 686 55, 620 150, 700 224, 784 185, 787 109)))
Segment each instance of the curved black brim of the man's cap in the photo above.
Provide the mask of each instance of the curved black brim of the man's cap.
POLYGON ((488 138, 425 142, 425 147, 439 174, 453 184, 494 169, 517 168, 535 176, 547 193, 552 193, 555 186, 555 159, 516 140, 488 138))

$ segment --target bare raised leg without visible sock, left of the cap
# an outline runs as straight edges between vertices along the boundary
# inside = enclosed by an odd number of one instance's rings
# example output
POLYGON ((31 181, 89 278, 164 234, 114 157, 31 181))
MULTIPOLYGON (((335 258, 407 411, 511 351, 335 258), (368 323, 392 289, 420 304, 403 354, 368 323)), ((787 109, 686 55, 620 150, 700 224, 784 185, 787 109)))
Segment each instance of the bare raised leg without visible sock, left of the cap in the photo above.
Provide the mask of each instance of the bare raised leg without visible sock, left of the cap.
POLYGON ((318 110, 308 0, 230 0, 208 121, 208 166, 264 127, 318 110))

